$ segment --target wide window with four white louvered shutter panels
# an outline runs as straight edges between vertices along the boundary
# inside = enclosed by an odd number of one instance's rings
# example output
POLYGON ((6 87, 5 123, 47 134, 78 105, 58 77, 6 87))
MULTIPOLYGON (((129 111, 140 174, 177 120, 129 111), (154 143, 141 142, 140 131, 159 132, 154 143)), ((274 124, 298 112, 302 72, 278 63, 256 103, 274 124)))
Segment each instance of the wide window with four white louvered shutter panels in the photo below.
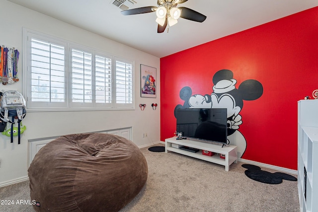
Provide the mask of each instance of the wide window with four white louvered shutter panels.
POLYGON ((134 62, 26 31, 27 108, 134 108, 134 62))

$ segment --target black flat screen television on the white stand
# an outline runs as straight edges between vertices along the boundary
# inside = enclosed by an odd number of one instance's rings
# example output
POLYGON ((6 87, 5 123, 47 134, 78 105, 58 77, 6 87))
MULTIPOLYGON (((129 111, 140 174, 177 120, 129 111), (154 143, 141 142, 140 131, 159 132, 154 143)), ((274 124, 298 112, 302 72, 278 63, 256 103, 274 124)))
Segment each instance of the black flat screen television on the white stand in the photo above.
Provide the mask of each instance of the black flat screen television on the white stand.
POLYGON ((228 144, 226 108, 188 108, 176 110, 176 132, 182 137, 228 144))

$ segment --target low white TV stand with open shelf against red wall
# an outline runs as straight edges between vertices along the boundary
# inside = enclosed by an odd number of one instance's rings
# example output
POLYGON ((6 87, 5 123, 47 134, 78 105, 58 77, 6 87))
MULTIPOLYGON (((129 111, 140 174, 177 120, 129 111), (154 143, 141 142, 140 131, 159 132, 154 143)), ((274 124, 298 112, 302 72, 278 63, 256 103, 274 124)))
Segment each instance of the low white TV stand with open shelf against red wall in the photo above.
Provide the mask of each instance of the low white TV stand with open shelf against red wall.
POLYGON ((206 160, 212 163, 224 165, 226 171, 229 171, 230 165, 232 163, 238 162, 238 150, 237 146, 235 145, 226 145, 222 147, 222 144, 220 145, 210 142, 195 141, 192 139, 176 140, 176 138, 177 137, 172 137, 165 140, 166 153, 168 151, 173 151, 179 154, 184 154, 190 157, 195 157, 201 160, 206 160), (200 151, 194 153, 191 151, 175 148, 171 146, 171 143, 198 148, 200 149, 200 151), (202 150, 212 151, 217 154, 214 154, 213 156, 204 155, 202 154, 202 150), (220 158, 220 154, 225 154, 225 159, 220 158))

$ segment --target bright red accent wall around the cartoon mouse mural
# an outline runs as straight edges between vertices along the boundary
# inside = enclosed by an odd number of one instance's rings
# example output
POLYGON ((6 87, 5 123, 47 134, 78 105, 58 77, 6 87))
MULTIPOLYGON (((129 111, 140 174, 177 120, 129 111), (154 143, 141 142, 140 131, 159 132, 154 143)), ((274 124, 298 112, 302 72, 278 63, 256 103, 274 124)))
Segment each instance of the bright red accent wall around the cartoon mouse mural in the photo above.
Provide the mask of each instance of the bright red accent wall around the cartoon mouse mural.
POLYGON ((246 79, 263 85, 260 98, 243 101, 242 158, 296 170, 297 101, 318 89, 318 7, 161 58, 161 141, 174 136, 181 88, 211 94, 222 69, 233 71, 237 87, 246 79))

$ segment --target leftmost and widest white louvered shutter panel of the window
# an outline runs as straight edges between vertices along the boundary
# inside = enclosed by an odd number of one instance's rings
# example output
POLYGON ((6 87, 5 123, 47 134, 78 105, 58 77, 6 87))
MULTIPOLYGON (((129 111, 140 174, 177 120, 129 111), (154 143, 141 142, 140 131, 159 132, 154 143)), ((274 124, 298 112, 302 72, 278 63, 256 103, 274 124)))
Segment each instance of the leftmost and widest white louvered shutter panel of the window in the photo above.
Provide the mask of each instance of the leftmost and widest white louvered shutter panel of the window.
POLYGON ((31 38, 28 67, 30 105, 66 107, 65 46, 31 38))

